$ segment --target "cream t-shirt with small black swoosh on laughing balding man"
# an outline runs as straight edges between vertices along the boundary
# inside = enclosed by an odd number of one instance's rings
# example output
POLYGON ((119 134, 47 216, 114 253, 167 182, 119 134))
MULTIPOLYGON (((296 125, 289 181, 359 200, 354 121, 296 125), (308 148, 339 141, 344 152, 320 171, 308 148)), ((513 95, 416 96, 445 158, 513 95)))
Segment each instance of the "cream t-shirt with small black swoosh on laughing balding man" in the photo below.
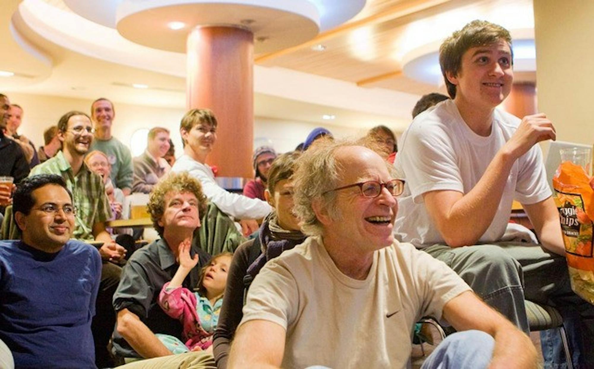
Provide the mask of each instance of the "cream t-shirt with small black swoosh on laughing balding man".
POLYGON ((413 324, 440 318, 445 303, 466 290, 443 262, 409 243, 375 251, 368 277, 355 280, 336 267, 320 237, 309 237, 255 277, 240 325, 263 319, 285 327, 283 368, 404 368, 413 324))

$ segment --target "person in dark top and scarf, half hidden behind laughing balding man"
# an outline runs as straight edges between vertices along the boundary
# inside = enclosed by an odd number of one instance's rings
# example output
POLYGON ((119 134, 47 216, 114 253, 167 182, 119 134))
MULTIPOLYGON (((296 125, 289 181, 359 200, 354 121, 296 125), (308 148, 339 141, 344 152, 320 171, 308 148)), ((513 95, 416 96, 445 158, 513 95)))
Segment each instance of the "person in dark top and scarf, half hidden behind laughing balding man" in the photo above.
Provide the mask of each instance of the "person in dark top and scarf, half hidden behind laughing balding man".
POLYGON ((293 175, 298 152, 277 157, 268 171, 266 201, 274 211, 262 223, 258 237, 242 243, 235 250, 220 311, 219 325, 214 331, 213 353, 217 368, 226 368, 231 340, 243 317, 244 291, 264 264, 305 240, 293 208, 293 175))

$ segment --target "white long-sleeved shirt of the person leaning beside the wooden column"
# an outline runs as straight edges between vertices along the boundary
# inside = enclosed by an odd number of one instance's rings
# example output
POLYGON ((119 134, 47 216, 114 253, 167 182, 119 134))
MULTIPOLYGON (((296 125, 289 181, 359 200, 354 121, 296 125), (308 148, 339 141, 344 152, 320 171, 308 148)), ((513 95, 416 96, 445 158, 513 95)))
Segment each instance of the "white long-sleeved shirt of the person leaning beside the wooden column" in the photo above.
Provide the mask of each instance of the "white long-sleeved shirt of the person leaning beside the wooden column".
POLYGON ((272 208, 266 201, 251 199, 238 193, 231 193, 220 187, 214 180, 213 170, 188 155, 182 155, 171 168, 172 173, 188 171, 202 184, 204 195, 214 205, 231 217, 238 219, 260 219, 266 217, 272 208))

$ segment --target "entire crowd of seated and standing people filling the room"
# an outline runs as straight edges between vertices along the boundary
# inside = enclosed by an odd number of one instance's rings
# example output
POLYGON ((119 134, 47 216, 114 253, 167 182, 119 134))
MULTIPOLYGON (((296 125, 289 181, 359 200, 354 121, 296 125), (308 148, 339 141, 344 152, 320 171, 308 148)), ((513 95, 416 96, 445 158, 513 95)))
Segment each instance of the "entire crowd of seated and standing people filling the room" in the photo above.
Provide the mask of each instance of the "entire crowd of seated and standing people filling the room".
MULTIPOLYGON (((108 99, 62 115, 36 149, 0 94, 2 232, 17 235, 0 241, 0 364, 404 368, 431 315, 454 333, 423 368, 535 368, 529 299, 561 312, 574 367, 593 368, 594 306, 571 291, 537 145, 554 126, 496 109, 510 34, 473 21, 440 65, 450 96, 423 96, 400 151, 385 126, 358 140, 316 128, 293 152, 255 149, 243 194, 207 164, 208 109, 182 117, 180 157, 153 127, 132 158, 108 99), (131 193, 148 194, 159 234, 138 249, 108 227, 131 193), (514 199, 538 245, 503 242, 514 199)), ((547 367, 565 361, 557 335, 541 343, 547 367)))

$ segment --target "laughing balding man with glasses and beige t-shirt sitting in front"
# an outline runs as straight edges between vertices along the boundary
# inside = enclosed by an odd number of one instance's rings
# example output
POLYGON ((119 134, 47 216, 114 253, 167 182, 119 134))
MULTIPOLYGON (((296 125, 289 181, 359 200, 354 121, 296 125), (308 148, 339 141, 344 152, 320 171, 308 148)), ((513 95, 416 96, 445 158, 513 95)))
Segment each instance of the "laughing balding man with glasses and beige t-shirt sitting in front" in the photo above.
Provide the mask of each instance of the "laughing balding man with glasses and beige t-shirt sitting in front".
POLYGON ((323 142, 300 161, 294 211, 310 237, 255 277, 230 367, 404 368, 424 315, 466 331, 448 337, 424 368, 536 365, 529 338, 456 273, 394 240, 404 183, 380 155, 323 142))

